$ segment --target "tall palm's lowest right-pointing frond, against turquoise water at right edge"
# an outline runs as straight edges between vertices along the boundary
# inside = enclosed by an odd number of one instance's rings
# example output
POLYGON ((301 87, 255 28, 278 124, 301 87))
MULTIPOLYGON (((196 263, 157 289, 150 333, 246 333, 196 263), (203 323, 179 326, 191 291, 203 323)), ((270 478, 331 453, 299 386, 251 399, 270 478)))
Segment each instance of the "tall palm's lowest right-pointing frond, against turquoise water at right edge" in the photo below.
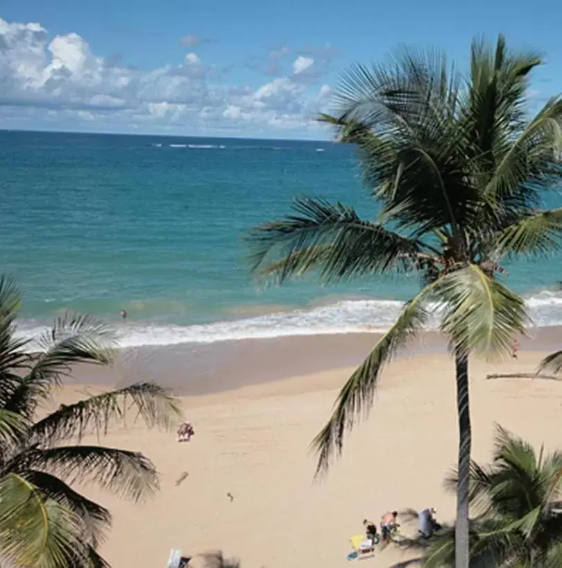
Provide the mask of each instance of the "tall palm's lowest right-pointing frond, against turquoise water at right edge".
POLYGON ((521 216, 492 241, 497 258, 506 255, 547 255, 562 246, 562 208, 521 216))

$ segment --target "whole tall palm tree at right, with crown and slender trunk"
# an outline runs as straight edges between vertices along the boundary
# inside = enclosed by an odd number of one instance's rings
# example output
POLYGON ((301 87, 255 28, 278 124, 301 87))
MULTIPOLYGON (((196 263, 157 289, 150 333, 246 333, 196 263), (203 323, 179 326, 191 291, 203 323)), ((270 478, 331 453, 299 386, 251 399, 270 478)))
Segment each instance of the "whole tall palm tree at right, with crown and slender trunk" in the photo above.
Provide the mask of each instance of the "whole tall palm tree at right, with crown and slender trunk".
POLYGON ((540 62, 509 51, 500 36, 495 47, 472 43, 466 77, 438 53, 409 49, 389 65, 352 67, 334 98, 334 121, 352 126, 377 217, 300 197, 291 215, 249 236, 253 271, 278 283, 305 272, 328 283, 420 276, 421 291, 343 386, 314 440, 317 474, 371 408, 381 369, 439 306, 457 380, 457 568, 468 567, 468 356, 508 353, 525 330, 525 304, 502 281, 502 258, 557 251, 562 233, 562 209, 540 209, 559 183, 562 100, 527 117, 529 74, 540 62))

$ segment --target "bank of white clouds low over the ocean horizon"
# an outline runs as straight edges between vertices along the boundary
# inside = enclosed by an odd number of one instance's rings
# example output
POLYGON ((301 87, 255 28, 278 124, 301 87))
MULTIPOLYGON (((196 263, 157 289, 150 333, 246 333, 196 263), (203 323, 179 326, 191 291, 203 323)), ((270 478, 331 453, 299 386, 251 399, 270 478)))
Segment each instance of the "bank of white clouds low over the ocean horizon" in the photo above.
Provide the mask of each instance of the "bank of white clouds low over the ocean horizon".
MULTIPOLYGON (((186 36, 183 43, 193 47, 201 42, 196 39, 186 36)), ((287 53, 283 47, 280 57, 287 53)), ((239 133, 306 131, 316 128, 313 118, 330 94, 327 85, 314 92, 300 78, 313 68, 313 57, 298 56, 287 76, 262 85, 228 85, 219 83, 218 66, 206 65, 192 51, 179 65, 130 69, 96 56, 76 33, 52 37, 40 24, 0 19, 0 120, 10 128, 43 120, 60 127, 103 124, 110 131, 207 133, 235 123, 244 123, 239 133)))

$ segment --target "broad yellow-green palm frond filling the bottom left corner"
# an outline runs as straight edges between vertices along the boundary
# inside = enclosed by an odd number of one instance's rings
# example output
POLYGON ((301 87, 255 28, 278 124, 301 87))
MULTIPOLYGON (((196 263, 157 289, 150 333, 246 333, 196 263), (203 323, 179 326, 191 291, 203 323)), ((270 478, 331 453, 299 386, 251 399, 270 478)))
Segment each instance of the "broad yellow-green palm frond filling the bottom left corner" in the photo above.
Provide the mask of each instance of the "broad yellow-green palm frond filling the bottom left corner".
POLYGON ((0 557, 17 566, 71 568, 83 556, 83 526, 17 474, 0 477, 0 557))

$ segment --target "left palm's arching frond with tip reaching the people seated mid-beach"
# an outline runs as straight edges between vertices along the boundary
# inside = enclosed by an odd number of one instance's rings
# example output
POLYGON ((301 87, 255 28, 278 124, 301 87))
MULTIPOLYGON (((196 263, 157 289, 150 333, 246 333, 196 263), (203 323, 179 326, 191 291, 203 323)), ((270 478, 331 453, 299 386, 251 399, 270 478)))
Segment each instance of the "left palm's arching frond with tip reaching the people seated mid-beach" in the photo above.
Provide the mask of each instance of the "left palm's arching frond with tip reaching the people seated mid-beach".
POLYGON ((106 435, 108 428, 123 423, 128 415, 149 427, 169 428, 180 417, 178 399, 155 383, 135 383, 62 406, 33 424, 29 436, 45 445, 77 439, 87 433, 106 435))

